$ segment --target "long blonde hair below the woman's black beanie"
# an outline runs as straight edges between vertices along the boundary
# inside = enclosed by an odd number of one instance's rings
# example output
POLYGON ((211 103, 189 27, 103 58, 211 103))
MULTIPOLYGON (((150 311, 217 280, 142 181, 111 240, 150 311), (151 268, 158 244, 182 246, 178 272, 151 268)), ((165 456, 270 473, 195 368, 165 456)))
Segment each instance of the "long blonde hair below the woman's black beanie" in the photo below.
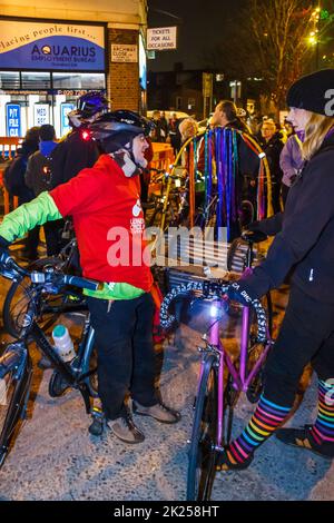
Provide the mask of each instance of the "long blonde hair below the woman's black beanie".
POLYGON ((302 155, 305 160, 310 160, 321 148, 328 130, 334 127, 334 118, 311 111, 306 112, 308 120, 305 126, 305 139, 302 146, 302 155))

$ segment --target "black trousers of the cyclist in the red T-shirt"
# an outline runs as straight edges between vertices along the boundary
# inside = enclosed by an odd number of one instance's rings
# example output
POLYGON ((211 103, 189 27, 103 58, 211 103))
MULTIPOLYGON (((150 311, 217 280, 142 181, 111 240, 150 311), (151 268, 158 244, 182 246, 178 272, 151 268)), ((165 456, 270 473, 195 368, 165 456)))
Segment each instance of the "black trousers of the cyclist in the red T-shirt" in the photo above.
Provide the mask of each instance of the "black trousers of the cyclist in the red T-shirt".
POLYGON ((141 405, 158 402, 155 389, 153 345, 154 300, 139 298, 109 302, 88 298, 98 352, 98 392, 108 420, 125 412, 129 392, 141 405))

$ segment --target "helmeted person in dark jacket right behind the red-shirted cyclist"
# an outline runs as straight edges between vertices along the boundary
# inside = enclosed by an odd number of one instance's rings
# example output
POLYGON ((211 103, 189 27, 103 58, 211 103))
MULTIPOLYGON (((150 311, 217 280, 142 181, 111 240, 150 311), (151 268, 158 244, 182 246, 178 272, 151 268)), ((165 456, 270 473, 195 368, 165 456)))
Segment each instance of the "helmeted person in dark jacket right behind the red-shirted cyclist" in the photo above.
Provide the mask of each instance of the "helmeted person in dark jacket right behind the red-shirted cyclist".
POLYGON ((52 187, 69 181, 85 167, 94 166, 99 149, 87 127, 107 110, 108 100, 98 91, 78 98, 77 109, 68 114, 71 131, 52 151, 52 187))

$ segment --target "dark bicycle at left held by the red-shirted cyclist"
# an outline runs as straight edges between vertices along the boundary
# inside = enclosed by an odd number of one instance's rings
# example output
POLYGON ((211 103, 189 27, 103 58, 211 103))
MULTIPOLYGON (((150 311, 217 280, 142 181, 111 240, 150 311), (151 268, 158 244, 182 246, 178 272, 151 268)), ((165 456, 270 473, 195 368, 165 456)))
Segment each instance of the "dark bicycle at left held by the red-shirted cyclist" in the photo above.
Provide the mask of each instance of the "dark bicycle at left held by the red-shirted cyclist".
POLYGON ((18 341, 8 344, 0 355, 1 467, 13 437, 19 432, 19 422, 24 418, 27 412, 33 372, 30 356, 31 342, 36 343, 40 352, 53 365, 53 373, 49 382, 50 396, 58 397, 69 387, 76 388, 82 395, 87 414, 91 413, 94 417, 90 402, 94 397, 97 397, 97 368, 92 357, 95 333, 89 322, 89 315, 85 319, 76 357, 70 362, 65 362, 36 322, 36 305, 38 306, 39 295, 43 290, 48 294, 59 294, 66 286, 97 290, 100 288, 100 283, 57 272, 29 272, 20 267, 7 254, 0 256, 0 275, 12 280, 21 277, 31 280, 31 285, 27 289, 30 299, 22 317, 20 337, 18 341))

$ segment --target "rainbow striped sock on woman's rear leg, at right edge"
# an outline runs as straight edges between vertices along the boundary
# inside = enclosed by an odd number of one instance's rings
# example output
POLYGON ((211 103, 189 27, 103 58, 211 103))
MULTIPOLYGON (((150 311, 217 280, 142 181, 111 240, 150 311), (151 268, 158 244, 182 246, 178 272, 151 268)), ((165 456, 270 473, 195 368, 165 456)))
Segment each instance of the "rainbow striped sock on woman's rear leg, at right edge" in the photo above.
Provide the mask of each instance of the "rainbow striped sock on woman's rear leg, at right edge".
POLYGON ((320 445, 334 443, 334 383, 318 381, 317 418, 311 433, 320 445))

